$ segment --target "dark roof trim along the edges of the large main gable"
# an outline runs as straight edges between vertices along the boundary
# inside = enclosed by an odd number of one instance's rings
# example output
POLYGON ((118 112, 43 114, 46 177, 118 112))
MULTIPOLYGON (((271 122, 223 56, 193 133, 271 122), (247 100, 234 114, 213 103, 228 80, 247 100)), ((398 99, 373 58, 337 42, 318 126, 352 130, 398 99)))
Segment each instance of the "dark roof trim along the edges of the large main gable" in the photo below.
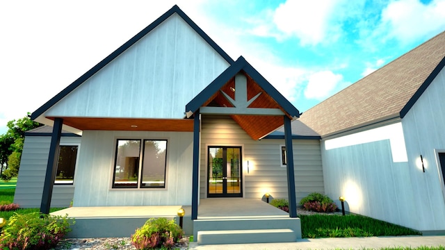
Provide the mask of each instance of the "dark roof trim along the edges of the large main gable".
POLYGON ((117 58, 121 53, 123 53, 124 51, 126 51, 129 47, 131 47, 133 44, 135 44, 136 42, 138 42, 138 40, 140 40, 141 38, 143 38, 145 35, 147 35, 147 33, 149 33, 150 31, 152 31, 154 28, 156 28, 159 24, 161 24, 162 22, 165 21, 165 19, 168 19, 168 17, 170 17, 171 15, 173 15, 174 13, 177 13, 182 19, 184 19, 184 21, 190 25, 195 31, 196 33, 198 33, 206 42, 208 42, 210 44, 210 46, 216 50, 216 52, 218 52, 220 54, 220 56, 222 56, 225 60, 227 60, 227 63, 232 64, 234 63, 234 60, 232 58, 230 58, 230 56, 225 53, 225 51, 223 51, 223 49, 221 49, 221 47, 218 46, 218 44, 216 44, 216 42, 214 42, 213 40, 211 40, 211 38, 209 37, 209 35, 207 35, 204 31, 202 31, 202 29, 200 27, 198 27, 195 22, 192 21, 192 19, 190 19, 190 17, 188 17, 186 15, 186 13, 184 13, 177 5, 173 6, 170 10, 168 10, 167 12, 165 12, 163 15, 161 15, 161 17, 159 17, 158 19, 156 19, 154 22, 152 22, 152 24, 149 24, 149 26, 145 27, 142 31, 140 31, 138 34, 136 34, 135 36, 133 36, 133 38, 131 38, 130 40, 128 40, 127 42, 125 42, 124 44, 122 44, 121 47, 119 47, 118 49, 116 49, 115 51, 113 51, 113 53, 111 53, 109 56, 107 56, 104 60, 102 60, 100 63, 98 63, 97 65, 95 65, 95 67, 92 67, 90 70, 88 70, 88 72, 86 72, 85 74, 83 74, 81 77, 79 77, 76 81, 74 81, 73 83, 71 83, 70 85, 67 86, 67 88, 65 88, 64 90, 62 90, 60 93, 56 94, 55 97, 51 98, 49 101, 47 101, 47 103, 44 103, 43 106, 41 106, 40 108, 38 108, 38 110, 35 110, 32 114, 31 114, 31 119, 35 119, 37 117, 39 117, 40 115, 42 115, 46 110, 48 110, 49 108, 51 108, 51 106, 54 106, 54 104, 56 104, 58 101, 60 101, 61 99, 63 99, 63 97, 67 96, 67 94, 70 94, 70 92, 72 92, 73 90, 75 90, 77 87, 79 87, 79 85, 81 85, 84 81, 86 81, 88 78, 90 78, 92 75, 96 74, 96 72, 98 72, 100 69, 102 69, 103 67, 105 67, 108 63, 110 63, 112 60, 114 60, 115 58, 117 58))

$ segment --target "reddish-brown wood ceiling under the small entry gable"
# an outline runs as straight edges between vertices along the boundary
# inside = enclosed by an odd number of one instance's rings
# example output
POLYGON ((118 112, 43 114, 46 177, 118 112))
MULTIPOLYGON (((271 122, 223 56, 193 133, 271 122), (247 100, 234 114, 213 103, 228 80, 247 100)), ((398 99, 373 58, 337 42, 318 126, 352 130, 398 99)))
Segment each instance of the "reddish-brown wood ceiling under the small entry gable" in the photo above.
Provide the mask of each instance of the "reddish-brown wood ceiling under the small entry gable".
MULTIPOLYGON (((255 97, 261 92, 259 97, 255 99, 248 108, 279 108, 284 114, 287 113, 269 94, 267 94, 248 74, 242 72, 247 78, 248 100, 255 97)), ((230 78, 222 88, 229 97, 235 99, 235 76, 230 78)), ((202 106, 208 107, 233 107, 221 91, 213 94, 202 106)), ((289 116, 289 115, 288 115, 289 116)), ((230 115, 243 130, 250 135, 253 140, 259 140, 269 133, 280 128, 284 124, 283 116, 273 115, 230 115)), ((292 119, 292 117, 290 117, 292 119)))

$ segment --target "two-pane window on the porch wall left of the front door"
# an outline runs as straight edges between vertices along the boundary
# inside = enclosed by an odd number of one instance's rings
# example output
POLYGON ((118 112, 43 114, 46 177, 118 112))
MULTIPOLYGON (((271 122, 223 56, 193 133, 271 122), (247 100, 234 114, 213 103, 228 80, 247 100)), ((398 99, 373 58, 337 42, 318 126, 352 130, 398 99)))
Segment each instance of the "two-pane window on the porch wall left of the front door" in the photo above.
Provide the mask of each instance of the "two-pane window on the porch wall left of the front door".
POLYGON ((141 142, 118 140, 113 188, 165 188, 167 140, 141 142))

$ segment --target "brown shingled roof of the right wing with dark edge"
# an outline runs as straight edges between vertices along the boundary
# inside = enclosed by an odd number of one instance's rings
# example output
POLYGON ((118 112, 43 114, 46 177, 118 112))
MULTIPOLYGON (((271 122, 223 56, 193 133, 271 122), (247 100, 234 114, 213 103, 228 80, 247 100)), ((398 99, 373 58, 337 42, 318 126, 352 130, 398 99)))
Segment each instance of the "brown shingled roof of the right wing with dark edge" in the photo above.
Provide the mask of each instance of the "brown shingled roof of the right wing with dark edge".
POLYGON ((307 110, 300 121, 322 137, 401 119, 445 65, 445 32, 307 110))

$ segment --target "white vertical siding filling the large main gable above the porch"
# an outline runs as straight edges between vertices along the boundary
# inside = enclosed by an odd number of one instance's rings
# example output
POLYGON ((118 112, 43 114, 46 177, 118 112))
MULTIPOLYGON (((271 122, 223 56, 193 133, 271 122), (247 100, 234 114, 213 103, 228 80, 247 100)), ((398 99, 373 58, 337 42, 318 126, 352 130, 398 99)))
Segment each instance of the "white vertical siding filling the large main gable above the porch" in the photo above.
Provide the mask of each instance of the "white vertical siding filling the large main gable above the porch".
POLYGON ((174 14, 56 103, 46 116, 182 118, 229 66, 174 14))

